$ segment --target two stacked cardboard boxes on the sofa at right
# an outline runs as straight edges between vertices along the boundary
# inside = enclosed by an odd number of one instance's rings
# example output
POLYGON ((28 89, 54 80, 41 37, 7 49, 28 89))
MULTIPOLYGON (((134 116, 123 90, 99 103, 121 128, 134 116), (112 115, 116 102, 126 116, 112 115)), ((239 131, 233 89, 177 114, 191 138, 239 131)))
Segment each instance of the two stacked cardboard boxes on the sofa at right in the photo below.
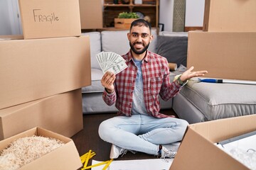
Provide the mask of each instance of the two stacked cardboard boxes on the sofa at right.
POLYGON ((202 31, 188 33, 188 67, 256 81, 256 1, 206 0, 202 31))

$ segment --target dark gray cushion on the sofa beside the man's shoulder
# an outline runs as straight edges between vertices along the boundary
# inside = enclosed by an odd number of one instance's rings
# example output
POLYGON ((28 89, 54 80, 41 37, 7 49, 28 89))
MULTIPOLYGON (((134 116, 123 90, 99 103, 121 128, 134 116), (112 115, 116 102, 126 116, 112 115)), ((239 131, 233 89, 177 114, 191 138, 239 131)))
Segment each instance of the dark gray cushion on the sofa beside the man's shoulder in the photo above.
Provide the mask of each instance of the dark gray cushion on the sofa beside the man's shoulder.
POLYGON ((186 36, 164 36, 157 37, 157 54, 166 57, 168 62, 173 62, 186 67, 188 37, 186 36))

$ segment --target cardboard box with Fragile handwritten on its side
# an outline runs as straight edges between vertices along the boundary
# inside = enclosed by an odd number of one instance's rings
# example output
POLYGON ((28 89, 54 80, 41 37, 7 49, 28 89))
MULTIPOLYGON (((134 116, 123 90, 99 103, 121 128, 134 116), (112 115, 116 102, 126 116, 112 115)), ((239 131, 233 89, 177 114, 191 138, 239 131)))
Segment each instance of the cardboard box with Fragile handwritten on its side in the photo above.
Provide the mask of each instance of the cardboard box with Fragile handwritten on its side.
POLYGON ((25 39, 80 36, 78 0, 18 0, 25 39))

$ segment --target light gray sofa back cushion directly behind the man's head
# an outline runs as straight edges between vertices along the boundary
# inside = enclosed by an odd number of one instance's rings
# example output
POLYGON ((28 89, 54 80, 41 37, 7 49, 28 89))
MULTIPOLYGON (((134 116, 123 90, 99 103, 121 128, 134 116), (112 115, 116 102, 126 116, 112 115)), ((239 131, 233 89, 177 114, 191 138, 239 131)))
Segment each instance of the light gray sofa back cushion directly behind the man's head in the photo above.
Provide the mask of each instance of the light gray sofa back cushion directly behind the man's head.
MULTIPOLYGON (((130 49, 127 33, 129 33, 129 30, 102 31, 102 51, 115 52, 119 55, 125 55, 130 49)), ((152 35, 154 36, 154 39, 149 45, 149 50, 151 52, 156 52, 156 29, 152 29, 152 35)))

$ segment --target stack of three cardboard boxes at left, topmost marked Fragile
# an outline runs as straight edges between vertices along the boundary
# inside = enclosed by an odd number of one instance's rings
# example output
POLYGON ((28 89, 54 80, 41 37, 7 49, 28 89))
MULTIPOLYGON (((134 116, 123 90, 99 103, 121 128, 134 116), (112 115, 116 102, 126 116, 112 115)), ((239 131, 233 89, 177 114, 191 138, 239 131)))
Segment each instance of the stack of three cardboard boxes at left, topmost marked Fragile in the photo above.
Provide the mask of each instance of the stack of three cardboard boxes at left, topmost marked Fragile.
POLYGON ((42 127, 82 130, 81 87, 89 86, 90 41, 79 2, 20 0, 23 36, 0 40, 0 140, 42 127))

